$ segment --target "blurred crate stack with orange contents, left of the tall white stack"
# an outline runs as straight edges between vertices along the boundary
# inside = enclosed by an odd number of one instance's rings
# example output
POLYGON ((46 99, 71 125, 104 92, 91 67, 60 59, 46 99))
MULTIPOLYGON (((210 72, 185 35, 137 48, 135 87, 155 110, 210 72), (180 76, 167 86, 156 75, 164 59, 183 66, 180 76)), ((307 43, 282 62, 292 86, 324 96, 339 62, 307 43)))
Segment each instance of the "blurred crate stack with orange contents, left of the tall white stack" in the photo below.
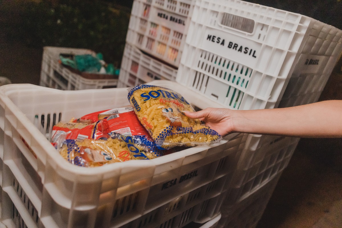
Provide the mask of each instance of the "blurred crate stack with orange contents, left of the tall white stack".
POLYGON ((194 0, 135 0, 118 87, 175 81, 194 0))

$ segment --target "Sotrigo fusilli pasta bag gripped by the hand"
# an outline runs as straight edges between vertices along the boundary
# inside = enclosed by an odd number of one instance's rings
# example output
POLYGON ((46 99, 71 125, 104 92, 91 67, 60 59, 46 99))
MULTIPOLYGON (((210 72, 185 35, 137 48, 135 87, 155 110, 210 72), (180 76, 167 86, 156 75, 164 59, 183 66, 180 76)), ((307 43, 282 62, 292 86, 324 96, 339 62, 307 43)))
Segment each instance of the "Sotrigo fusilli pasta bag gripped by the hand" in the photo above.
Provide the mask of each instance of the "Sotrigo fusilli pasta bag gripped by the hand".
POLYGON ((207 145, 222 139, 216 131, 183 111, 195 111, 184 97, 170 89, 139 85, 128 94, 137 117, 155 140, 158 148, 207 145))

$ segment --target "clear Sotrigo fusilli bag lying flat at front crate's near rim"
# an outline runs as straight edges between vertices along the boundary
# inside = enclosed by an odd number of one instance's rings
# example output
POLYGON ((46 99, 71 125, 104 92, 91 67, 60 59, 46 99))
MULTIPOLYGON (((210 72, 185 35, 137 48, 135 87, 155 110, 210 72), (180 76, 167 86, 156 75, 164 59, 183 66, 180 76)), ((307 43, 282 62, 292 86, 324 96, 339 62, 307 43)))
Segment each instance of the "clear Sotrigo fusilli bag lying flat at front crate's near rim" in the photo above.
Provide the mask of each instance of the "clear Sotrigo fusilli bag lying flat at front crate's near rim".
POLYGON ((63 158, 85 167, 129 160, 148 160, 155 156, 131 136, 114 134, 107 139, 66 139, 58 146, 63 158))

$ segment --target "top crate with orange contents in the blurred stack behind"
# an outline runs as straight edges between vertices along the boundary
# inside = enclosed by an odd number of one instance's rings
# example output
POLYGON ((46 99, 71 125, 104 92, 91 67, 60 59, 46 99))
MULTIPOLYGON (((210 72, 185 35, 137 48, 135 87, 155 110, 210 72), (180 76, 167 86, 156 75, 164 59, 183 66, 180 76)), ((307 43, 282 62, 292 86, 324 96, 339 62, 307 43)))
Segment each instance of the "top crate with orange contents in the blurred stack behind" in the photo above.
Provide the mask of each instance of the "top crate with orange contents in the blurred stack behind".
POLYGON ((178 67, 194 0, 135 0, 126 42, 178 67))

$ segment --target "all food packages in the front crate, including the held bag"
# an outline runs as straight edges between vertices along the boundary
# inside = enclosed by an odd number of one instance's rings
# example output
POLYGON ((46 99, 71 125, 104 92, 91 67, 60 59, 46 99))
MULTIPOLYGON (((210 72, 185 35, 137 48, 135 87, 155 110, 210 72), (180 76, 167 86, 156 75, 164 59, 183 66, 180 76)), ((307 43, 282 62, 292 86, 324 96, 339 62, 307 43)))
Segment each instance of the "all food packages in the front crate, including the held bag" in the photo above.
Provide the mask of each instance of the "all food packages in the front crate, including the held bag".
POLYGON ((183 111, 195 111, 180 94, 141 85, 129 91, 131 106, 96 111, 53 126, 51 142, 79 166, 153 159, 222 136, 183 111))

